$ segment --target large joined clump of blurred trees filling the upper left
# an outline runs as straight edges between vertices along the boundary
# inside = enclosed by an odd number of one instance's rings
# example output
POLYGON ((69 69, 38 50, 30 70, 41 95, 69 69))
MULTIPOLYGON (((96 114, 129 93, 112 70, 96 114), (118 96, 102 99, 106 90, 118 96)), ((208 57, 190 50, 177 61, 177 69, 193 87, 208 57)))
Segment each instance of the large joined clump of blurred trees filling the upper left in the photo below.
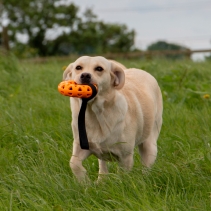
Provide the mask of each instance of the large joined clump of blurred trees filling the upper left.
POLYGON ((10 39, 16 42, 19 52, 26 45, 21 47, 18 35, 27 35, 27 45, 41 56, 125 52, 134 45, 133 30, 98 21, 91 9, 80 18, 77 6, 59 0, 2 1, 10 20, 10 39))

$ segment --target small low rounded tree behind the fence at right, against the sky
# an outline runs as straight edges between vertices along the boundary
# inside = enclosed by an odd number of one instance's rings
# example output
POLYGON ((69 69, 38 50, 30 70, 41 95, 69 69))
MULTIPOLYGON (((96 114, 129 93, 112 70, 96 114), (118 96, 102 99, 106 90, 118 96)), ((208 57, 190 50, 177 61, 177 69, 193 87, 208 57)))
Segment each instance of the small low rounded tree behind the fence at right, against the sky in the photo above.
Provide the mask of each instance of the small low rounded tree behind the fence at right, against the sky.
POLYGON ((177 45, 177 44, 173 44, 173 43, 167 43, 165 41, 158 41, 156 43, 153 43, 151 45, 148 46, 147 48, 148 51, 184 51, 184 53, 175 53, 175 54, 165 54, 166 58, 171 58, 171 59, 181 59, 181 58, 190 58, 190 49, 181 46, 181 45, 177 45))

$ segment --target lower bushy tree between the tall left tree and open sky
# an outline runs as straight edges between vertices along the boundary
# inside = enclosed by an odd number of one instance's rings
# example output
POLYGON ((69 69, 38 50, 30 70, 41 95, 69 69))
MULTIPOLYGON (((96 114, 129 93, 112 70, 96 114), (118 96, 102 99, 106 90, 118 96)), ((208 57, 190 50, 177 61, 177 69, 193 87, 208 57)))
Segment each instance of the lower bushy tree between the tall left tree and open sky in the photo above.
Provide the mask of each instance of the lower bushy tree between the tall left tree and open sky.
POLYGON ((128 52, 132 50, 134 38, 134 30, 128 30, 126 25, 98 21, 92 10, 87 9, 76 29, 63 33, 51 46, 52 53, 60 54, 128 52))

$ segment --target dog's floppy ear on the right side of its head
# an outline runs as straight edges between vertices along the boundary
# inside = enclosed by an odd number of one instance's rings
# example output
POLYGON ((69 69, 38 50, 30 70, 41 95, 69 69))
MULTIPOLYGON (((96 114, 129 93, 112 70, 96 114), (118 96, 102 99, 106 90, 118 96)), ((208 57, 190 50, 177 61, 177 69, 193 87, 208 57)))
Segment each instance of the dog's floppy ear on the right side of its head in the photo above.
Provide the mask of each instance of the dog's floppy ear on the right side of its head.
POLYGON ((111 79, 112 85, 116 89, 121 89, 125 84, 125 73, 122 67, 112 61, 111 62, 111 79))

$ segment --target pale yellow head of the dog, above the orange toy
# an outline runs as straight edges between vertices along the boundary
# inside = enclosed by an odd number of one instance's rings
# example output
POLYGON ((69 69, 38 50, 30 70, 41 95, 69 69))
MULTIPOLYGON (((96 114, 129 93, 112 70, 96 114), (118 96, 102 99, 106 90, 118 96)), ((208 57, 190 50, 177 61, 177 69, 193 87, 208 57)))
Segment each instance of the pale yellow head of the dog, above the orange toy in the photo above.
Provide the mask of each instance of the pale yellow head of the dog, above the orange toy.
POLYGON ((110 88, 121 89, 125 83, 123 65, 104 57, 82 56, 69 64, 63 80, 74 80, 77 84, 96 84, 98 93, 110 88))

